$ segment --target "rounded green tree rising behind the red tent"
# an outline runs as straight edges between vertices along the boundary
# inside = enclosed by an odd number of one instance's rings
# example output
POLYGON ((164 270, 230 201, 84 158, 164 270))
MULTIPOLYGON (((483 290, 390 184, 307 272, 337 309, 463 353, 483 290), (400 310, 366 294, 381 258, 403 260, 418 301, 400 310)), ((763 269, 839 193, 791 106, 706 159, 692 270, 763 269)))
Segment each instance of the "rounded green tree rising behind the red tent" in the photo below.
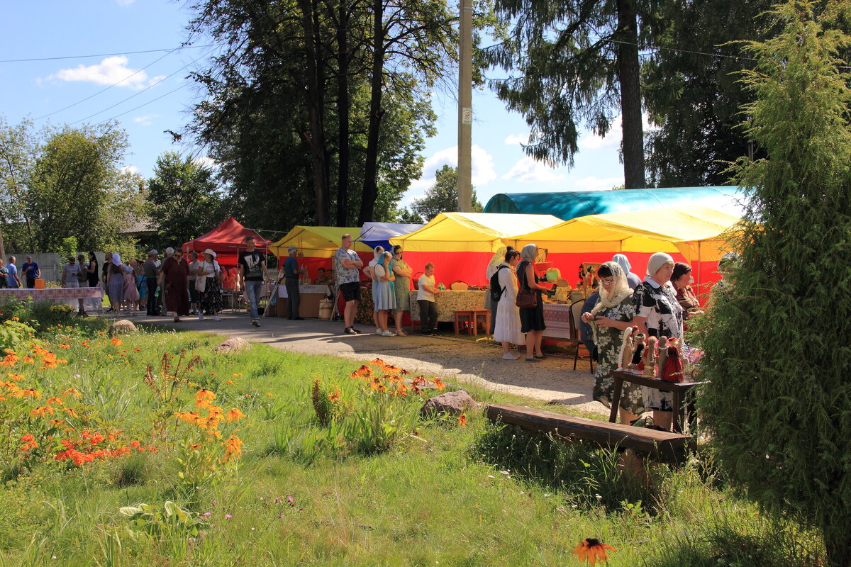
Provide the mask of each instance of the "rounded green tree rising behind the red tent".
POLYGON ((220 224, 222 198, 213 169, 192 156, 167 151, 157 157, 154 176, 148 180, 145 198, 157 235, 171 245, 199 235, 198 230, 220 224))

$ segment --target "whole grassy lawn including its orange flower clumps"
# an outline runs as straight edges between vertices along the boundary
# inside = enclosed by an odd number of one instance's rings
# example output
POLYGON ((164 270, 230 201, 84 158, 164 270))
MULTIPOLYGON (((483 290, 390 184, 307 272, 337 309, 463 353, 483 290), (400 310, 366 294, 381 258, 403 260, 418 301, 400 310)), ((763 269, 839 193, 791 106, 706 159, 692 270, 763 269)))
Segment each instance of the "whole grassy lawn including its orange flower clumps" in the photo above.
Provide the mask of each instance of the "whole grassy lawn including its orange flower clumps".
POLYGON ((220 337, 153 328, 119 343, 100 324, 31 322, 38 346, 7 345, 0 564, 579 565, 587 537, 612 565, 821 564, 711 456, 644 485, 480 411, 420 418, 435 384, 380 363, 350 377, 361 365, 331 356, 214 354, 220 337))

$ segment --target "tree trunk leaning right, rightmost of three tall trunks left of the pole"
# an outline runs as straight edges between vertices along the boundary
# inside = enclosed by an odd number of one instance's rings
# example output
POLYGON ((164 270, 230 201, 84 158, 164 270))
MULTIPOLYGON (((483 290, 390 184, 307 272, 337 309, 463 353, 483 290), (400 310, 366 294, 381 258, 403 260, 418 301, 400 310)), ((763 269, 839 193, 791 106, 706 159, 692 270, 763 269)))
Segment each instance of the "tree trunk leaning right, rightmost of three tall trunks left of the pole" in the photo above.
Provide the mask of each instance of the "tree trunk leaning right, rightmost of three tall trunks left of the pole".
POLYGON ((373 2, 373 63, 369 94, 369 128, 367 131, 366 164, 363 172, 363 196, 357 224, 363 226, 373 219, 375 199, 378 197, 378 134, 381 126, 381 83, 384 77, 384 4, 373 2))

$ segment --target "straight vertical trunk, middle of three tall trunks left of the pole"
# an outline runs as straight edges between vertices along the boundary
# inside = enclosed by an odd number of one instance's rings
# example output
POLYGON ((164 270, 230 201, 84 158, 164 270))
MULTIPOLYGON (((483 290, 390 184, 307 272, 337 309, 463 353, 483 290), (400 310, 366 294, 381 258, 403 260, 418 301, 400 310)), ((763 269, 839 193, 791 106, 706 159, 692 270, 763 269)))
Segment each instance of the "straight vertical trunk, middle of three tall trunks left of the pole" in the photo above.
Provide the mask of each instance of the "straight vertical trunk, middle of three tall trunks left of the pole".
POLYGON ((340 2, 340 16, 337 20, 337 50, 338 65, 340 67, 337 77, 337 114, 340 121, 338 133, 340 146, 340 171, 337 173, 337 226, 348 226, 346 214, 348 213, 349 193, 349 16, 348 3, 340 2))

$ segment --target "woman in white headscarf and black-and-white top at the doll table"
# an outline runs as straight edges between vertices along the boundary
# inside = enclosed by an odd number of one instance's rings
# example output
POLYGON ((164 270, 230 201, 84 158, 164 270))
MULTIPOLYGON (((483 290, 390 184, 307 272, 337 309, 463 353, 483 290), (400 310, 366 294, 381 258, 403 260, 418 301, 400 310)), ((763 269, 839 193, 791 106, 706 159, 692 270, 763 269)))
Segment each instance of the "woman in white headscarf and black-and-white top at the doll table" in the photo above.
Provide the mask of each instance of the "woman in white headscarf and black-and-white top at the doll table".
MULTIPOLYGON (((656 252, 647 263, 647 277, 632 294, 635 324, 638 332, 648 337, 683 338, 683 308, 671 285, 674 258, 656 252)), ((645 388, 644 401, 653 410, 653 421, 661 428, 671 428, 674 407, 671 394, 645 388)))

